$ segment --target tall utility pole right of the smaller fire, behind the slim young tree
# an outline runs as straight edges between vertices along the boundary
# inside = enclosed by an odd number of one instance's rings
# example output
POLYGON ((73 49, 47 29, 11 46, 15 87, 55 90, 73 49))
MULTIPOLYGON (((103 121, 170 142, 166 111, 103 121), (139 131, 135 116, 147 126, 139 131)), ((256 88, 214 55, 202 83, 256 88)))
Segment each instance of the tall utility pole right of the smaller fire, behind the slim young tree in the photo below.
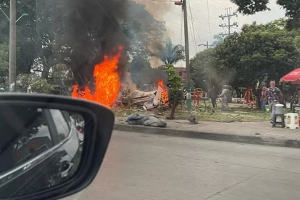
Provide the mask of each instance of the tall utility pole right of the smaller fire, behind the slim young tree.
POLYGON ((186 0, 183 0, 182 9, 184 10, 184 44, 186 51, 186 109, 191 110, 191 69, 189 66, 189 31, 186 11, 186 0))

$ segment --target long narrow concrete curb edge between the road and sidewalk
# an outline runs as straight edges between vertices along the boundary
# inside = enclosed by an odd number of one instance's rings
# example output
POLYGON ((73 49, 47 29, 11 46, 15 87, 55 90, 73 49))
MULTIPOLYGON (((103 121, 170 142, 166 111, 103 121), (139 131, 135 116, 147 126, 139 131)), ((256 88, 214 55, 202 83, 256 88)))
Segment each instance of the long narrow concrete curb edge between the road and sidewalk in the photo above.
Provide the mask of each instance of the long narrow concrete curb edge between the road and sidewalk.
POLYGON ((276 139, 271 137, 259 136, 239 136, 234 134, 219 134, 214 132, 202 131, 183 131, 176 129, 157 128, 140 125, 114 124, 116 131, 139 132, 143 134, 156 134, 164 136, 186 137, 191 139, 206 139, 215 141, 229 141, 244 144, 259 144, 266 146, 281 146, 300 148, 300 140, 276 139))

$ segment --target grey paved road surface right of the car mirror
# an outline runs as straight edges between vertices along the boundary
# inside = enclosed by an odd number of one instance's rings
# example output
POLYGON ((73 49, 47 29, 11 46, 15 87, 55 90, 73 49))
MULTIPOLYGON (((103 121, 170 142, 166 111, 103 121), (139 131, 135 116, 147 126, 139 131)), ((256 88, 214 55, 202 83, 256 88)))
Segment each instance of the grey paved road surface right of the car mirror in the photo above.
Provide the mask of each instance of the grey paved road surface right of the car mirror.
POLYGON ((300 150, 114 131, 94 182, 66 199, 299 200, 300 150))

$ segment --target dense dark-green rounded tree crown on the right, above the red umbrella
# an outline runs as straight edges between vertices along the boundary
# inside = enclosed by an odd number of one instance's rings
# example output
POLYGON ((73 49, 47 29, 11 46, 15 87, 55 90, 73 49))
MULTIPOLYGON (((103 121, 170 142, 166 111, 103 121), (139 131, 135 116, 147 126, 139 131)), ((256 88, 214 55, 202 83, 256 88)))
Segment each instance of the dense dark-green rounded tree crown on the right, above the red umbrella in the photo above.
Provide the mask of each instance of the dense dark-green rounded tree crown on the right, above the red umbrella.
POLYGON ((258 81, 278 81, 296 68, 299 53, 294 46, 296 34, 284 29, 285 21, 244 25, 240 33, 226 37, 216 46, 216 59, 223 70, 231 70, 231 83, 254 86, 258 81))

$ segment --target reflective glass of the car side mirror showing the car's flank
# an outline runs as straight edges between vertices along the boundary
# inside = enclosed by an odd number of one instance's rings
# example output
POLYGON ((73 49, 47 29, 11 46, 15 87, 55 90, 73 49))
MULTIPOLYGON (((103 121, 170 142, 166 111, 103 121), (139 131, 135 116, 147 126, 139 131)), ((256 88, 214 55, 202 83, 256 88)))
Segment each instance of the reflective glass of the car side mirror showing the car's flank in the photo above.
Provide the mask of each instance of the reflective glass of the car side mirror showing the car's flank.
POLYGON ((74 111, 0 106, 0 199, 63 183, 81 160, 84 118, 74 111))

